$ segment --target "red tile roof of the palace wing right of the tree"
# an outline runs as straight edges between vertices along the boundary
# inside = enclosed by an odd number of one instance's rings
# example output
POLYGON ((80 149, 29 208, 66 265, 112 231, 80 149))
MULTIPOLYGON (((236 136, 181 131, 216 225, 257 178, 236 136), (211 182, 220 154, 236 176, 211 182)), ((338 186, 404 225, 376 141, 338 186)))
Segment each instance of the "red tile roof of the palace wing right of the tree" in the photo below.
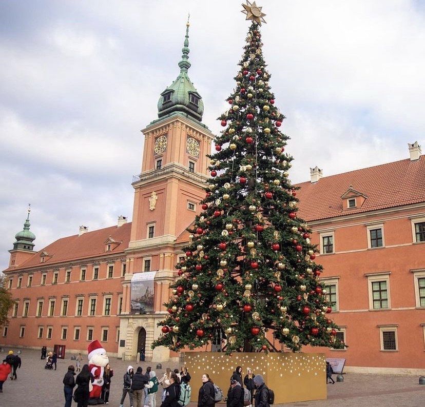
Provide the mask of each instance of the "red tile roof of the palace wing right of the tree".
POLYGON ((389 162, 376 167, 302 182, 297 191, 299 216, 306 221, 425 202, 425 155, 418 160, 389 162), (360 208, 342 208, 341 196, 352 188, 367 198, 360 208))

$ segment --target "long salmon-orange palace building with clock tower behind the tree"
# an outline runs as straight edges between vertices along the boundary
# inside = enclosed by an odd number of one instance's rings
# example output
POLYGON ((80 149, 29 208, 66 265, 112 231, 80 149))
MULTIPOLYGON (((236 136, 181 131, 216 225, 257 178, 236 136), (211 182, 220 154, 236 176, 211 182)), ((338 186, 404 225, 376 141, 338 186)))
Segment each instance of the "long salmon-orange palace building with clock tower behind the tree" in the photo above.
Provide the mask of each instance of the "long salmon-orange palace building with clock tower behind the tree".
MULTIPOLYGON (((60 238, 38 252, 29 213, 4 270, 15 304, 0 344, 54 344, 85 352, 99 339, 108 353, 147 360, 176 357, 151 349, 163 303, 184 257, 186 228, 200 212, 214 135, 202 124, 203 102, 188 77, 188 25, 180 73, 158 101, 145 129, 141 173, 133 177, 132 222, 60 238)), ((329 177, 311 169, 299 184, 299 216, 313 229, 344 350, 352 369, 424 369, 425 156, 329 177)), ((306 349, 308 351, 308 349, 306 349)))

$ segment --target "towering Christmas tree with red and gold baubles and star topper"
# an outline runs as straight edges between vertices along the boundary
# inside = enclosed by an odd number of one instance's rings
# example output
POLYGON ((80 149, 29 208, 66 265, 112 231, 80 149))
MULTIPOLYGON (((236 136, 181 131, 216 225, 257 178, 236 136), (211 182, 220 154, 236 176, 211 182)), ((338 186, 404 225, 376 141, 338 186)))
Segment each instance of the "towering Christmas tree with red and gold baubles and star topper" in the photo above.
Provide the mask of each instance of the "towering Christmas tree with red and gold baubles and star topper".
POLYGON ((311 230, 297 216, 285 152, 285 118, 275 104, 262 53, 261 8, 253 19, 236 87, 221 115, 210 155, 211 178, 195 219, 168 317, 153 347, 179 351, 220 345, 233 351, 298 351, 304 344, 342 348, 319 281, 311 230), (276 349, 271 340, 281 344, 276 349))

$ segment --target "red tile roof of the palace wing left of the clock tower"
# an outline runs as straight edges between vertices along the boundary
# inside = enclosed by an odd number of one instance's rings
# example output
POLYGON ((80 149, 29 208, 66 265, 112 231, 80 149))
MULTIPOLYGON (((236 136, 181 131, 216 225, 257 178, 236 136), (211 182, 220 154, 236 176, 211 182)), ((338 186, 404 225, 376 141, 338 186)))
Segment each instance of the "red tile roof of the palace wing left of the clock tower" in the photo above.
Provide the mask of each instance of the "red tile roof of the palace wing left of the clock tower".
POLYGON ((50 245, 34 253, 34 256, 20 264, 17 269, 9 268, 5 271, 22 270, 34 266, 46 266, 48 264, 53 265, 66 261, 97 257, 105 254, 124 253, 124 250, 128 248, 128 243, 130 241, 130 231, 131 222, 128 222, 120 227, 111 226, 109 228, 86 232, 81 236, 73 235, 63 237, 62 239, 57 239, 50 245), (105 243, 109 236, 117 243, 122 243, 118 246, 111 243, 111 250, 105 252, 105 243), (48 256, 45 257, 44 263, 40 262, 40 254, 42 252, 46 252, 48 254, 48 256))

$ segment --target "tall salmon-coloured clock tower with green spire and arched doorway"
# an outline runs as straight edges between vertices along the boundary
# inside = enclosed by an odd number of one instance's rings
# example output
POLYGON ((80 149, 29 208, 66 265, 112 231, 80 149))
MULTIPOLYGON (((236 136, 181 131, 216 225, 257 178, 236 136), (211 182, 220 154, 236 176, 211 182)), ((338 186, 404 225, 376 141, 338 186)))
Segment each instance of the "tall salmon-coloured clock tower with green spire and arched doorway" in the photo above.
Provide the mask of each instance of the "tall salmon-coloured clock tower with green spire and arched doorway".
POLYGON ((144 350, 147 360, 168 360, 168 349, 150 345, 161 331, 163 303, 171 295, 175 264, 184 254, 178 237, 200 212, 205 196, 207 157, 214 135, 201 123, 202 97, 189 79, 189 23, 179 62, 180 73, 158 101, 158 118, 145 129, 142 171, 133 178, 134 206, 123 282, 119 353, 124 358, 144 350), (147 274, 146 274, 147 273, 147 274), (152 276, 152 310, 137 306, 137 279, 152 276))

